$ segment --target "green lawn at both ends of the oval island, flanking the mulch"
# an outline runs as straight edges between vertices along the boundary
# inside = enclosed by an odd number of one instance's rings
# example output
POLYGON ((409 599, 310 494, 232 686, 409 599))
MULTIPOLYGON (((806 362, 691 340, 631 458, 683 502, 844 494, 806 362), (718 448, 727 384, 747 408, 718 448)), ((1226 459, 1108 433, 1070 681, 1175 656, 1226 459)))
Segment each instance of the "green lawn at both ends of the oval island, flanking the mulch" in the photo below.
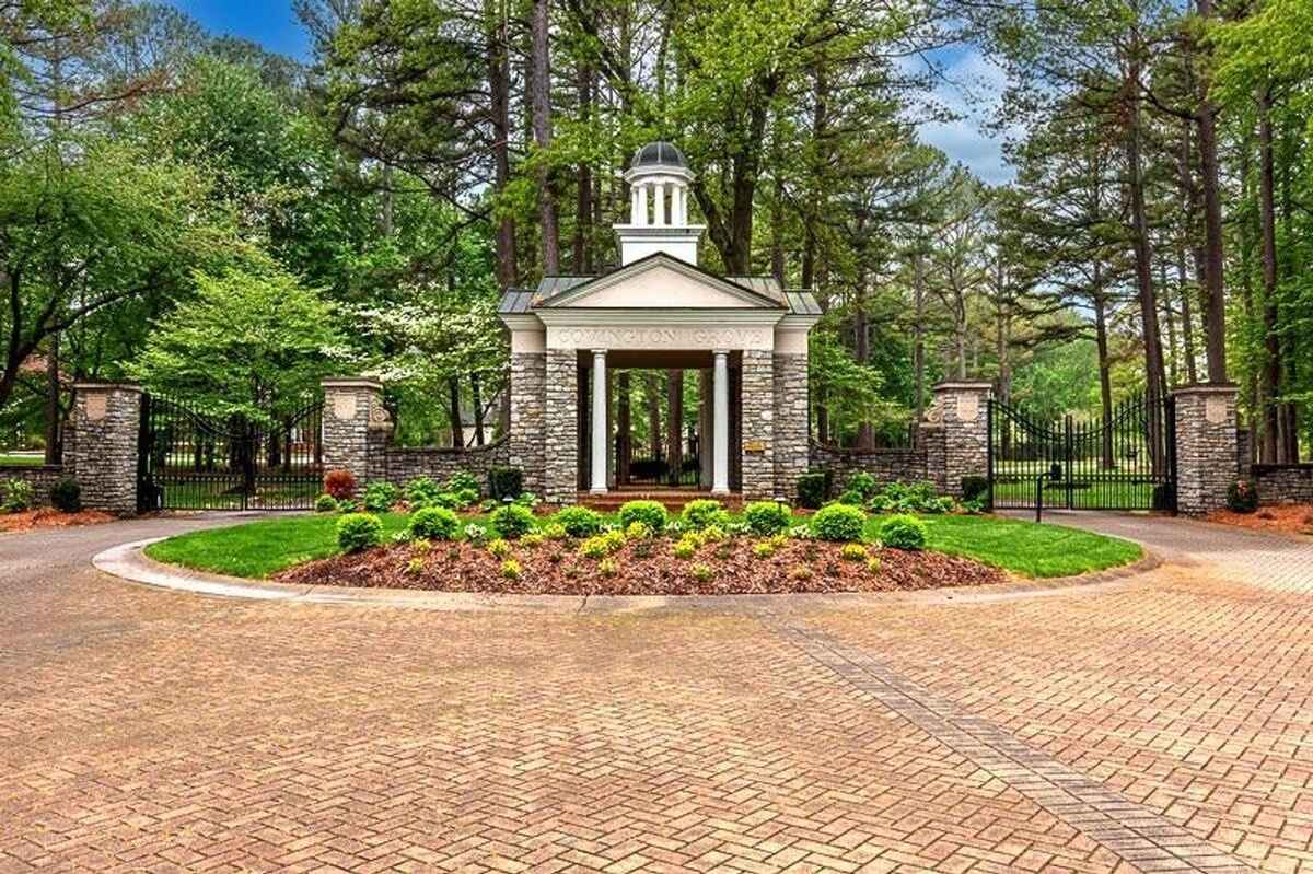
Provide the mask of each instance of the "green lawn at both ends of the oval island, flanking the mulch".
MULTIPOLYGON (((285 516, 231 528, 171 537, 146 549, 158 562, 181 564, 230 576, 267 577, 310 559, 332 555, 336 514, 285 516)), ((475 524, 483 524, 471 520, 475 524)), ((613 518, 613 517, 609 517, 613 518)), ((867 524, 874 539, 880 516, 867 524)), ((1127 564, 1141 556, 1137 545, 1061 525, 1036 525, 994 516, 924 516, 930 549, 974 558, 1022 576, 1073 576, 1127 564)), ((387 535, 402 530, 407 517, 382 517, 387 535)), ((798 520, 800 524, 802 520, 798 520)))

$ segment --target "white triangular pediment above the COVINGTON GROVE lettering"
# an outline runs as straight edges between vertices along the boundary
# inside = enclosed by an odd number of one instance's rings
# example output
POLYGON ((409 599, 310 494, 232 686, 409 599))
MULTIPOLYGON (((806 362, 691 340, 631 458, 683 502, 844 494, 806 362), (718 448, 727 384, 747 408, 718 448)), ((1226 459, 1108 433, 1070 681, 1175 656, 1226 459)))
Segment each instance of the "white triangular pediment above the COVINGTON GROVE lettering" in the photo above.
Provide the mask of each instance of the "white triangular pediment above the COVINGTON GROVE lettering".
POLYGON ((772 310, 781 304, 666 256, 637 261, 549 301, 553 310, 772 310))

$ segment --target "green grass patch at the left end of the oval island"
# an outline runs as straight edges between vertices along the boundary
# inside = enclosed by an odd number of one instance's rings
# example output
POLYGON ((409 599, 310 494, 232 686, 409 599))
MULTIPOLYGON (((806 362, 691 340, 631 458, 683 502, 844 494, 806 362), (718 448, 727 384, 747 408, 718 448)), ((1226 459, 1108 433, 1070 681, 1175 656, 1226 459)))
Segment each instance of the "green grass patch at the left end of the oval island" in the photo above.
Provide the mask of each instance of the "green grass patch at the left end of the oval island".
MULTIPOLYGON (((267 577, 293 564, 327 558, 337 551, 336 514, 284 516, 231 528, 179 534, 146 547, 156 562, 228 576, 267 577)), ((406 528, 403 513, 386 513, 383 531, 406 528)))

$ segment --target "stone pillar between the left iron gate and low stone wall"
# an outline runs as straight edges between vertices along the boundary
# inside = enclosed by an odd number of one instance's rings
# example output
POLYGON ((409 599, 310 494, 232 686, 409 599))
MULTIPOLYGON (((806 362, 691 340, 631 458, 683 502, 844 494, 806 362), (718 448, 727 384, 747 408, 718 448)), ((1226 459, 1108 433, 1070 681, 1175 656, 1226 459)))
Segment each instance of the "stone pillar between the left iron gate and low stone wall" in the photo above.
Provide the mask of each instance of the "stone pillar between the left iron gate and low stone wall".
POLYGON ((383 383, 362 377, 324 379, 324 472, 349 470, 360 488, 386 479, 383 449, 391 417, 383 407, 383 383))

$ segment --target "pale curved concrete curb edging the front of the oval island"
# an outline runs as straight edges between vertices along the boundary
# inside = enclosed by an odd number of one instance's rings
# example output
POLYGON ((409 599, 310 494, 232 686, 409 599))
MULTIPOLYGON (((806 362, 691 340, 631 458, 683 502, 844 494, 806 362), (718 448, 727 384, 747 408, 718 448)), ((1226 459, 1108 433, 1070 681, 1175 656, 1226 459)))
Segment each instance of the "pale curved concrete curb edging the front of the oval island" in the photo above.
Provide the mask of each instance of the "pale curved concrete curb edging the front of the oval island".
POLYGON ((144 549, 163 537, 133 541, 108 549, 95 558, 96 570, 130 583, 139 583, 173 592, 186 592, 221 598, 253 601, 290 601, 295 604, 340 604, 355 606, 408 608, 442 612, 562 613, 607 614, 654 610, 714 610, 759 613, 763 610, 813 612, 856 610, 878 605, 924 604, 968 605, 993 604, 1071 592, 1102 592, 1128 585, 1134 577, 1157 568, 1162 562, 1149 552, 1125 567, 1083 576, 1049 580, 1011 580, 997 585, 922 589, 915 592, 846 592, 804 594, 482 594, 475 592, 428 592, 411 589, 364 589, 332 585, 289 585, 206 573, 161 564, 146 556, 144 549))

